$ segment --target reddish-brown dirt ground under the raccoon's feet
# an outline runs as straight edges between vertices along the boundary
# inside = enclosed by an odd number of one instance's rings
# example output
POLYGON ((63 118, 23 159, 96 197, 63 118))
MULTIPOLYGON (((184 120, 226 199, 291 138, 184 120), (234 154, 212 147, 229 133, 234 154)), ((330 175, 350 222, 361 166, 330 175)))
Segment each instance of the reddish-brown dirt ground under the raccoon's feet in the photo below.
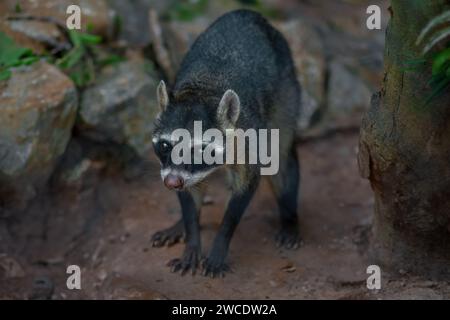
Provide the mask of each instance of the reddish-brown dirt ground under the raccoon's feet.
MULTIPOLYGON (((183 245, 152 248, 149 239, 179 218, 179 208, 175 195, 164 189, 158 165, 152 161, 148 173, 138 179, 107 175, 96 190, 77 195, 61 191, 58 201, 40 207, 53 213, 46 221, 44 237, 15 237, 23 231, 23 223, 10 228, 10 240, 21 240, 11 241, 14 250, 10 251, 9 272, 0 273, 0 298, 450 297, 448 284, 414 278, 401 270, 397 275, 382 270, 381 290, 366 288, 366 268, 371 263, 365 252, 373 199, 368 182, 358 174, 357 141, 357 133, 346 133, 299 146, 304 245, 297 251, 277 249, 274 244, 277 208, 264 181, 232 240, 228 261, 233 273, 223 279, 171 273, 166 263, 181 255, 183 245), (77 217, 86 210, 101 213, 67 245, 64 233, 70 233, 71 226, 76 228, 77 217), (81 290, 66 288, 70 264, 81 267, 81 290)), ((201 218, 205 253, 227 197, 219 178, 209 190, 212 203, 204 207, 201 218)), ((0 261, 5 268, 5 256, 0 261)))

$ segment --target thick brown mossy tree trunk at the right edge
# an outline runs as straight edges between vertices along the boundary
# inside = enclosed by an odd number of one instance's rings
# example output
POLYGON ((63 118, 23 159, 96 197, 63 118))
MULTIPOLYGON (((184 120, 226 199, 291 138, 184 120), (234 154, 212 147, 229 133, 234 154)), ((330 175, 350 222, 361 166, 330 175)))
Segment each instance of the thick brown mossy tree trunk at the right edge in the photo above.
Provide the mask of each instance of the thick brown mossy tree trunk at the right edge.
POLYGON ((450 94, 426 104, 431 66, 405 71, 448 0, 392 0, 383 88, 363 119, 359 167, 375 194, 371 255, 381 266, 450 276, 450 94))

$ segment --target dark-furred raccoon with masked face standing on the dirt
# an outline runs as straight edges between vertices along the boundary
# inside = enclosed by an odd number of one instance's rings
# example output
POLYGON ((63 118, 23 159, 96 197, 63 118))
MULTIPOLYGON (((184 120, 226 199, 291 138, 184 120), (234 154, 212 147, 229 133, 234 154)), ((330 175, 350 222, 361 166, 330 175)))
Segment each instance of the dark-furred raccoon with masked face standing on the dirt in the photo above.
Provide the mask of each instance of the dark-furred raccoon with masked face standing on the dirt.
MULTIPOLYGON (((153 144, 161 162, 165 186, 176 190, 182 219, 152 237, 155 247, 182 239, 181 258, 168 263, 172 272, 202 270, 205 276, 224 276, 233 233, 261 180, 258 164, 175 165, 171 133, 203 129, 279 129, 279 171, 269 176, 281 217, 276 243, 288 249, 299 246, 297 218, 299 164, 294 146, 301 104, 300 85, 289 46, 260 14, 249 10, 227 13, 203 32, 183 59, 171 90, 163 81, 157 89, 161 109, 153 144), (231 197, 209 255, 201 259, 199 216, 205 181, 225 170, 231 197)), ((202 142, 200 142, 202 143, 202 142)), ((224 152, 234 152, 225 150, 224 152)))

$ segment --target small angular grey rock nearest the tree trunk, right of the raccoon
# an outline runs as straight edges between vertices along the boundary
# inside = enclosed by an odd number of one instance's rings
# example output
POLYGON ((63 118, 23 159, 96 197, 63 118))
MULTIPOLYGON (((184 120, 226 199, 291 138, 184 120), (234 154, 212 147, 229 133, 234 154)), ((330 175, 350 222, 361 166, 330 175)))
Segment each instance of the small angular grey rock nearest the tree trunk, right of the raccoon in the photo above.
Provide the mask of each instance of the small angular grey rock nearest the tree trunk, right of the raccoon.
POLYGON ((361 77, 340 61, 332 61, 325 125, 330 128, 359 126, 371 96, 372 90, 361 77))

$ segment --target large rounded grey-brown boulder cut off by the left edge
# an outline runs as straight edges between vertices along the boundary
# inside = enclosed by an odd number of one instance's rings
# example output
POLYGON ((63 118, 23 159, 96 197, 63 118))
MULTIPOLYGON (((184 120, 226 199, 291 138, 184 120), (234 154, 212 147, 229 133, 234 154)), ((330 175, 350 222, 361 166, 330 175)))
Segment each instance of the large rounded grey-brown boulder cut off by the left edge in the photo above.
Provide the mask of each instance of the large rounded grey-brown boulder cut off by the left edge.
POLYGON ((23 208, 66 149, 78 96, 72 81, 43 61, 14 69, 0 92, 0 198, 23 208))

